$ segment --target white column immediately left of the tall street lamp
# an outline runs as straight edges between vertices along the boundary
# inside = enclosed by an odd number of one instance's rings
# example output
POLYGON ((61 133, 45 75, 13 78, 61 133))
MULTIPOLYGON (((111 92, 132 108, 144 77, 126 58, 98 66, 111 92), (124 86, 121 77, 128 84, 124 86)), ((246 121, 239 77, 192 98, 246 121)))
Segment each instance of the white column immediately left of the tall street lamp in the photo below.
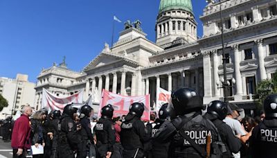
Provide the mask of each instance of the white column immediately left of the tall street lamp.
POLYGON ((214 91, 215 96, 220 96, 220 89, 217 88, 217 82, 220 82, 220 78, 218 76, 218 55, 217 50, 212 51, 213 53, 213 85, 214 85, 214 91))

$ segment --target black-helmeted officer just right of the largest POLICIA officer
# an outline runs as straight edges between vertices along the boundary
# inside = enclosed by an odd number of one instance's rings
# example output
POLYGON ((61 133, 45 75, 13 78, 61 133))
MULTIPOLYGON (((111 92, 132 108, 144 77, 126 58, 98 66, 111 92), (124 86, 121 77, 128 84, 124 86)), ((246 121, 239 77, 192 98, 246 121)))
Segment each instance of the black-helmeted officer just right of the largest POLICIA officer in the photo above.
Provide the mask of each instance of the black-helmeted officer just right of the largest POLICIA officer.
POLYGON ((223 157, 233 157, 231 152, 239 152, 242 147, 242 143, 238 137, 235 137, 230 126, 222 121, 225 119, 227 112, 228 107, 226 103, 220 100, 214 100, 208 104, 207 113, 204 117, 213 122, 220 134, 222 142, 226 146, 226 152, 222 153, 223 157))

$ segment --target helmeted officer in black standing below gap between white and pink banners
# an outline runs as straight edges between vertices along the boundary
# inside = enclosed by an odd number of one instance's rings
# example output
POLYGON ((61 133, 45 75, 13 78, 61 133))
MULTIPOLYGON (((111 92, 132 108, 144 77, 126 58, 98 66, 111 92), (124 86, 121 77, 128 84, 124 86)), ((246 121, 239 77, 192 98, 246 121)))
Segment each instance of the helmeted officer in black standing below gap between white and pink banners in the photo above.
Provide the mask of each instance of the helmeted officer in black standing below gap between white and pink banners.
POLYGON ((93 135, 91 132, 91 122, 89 117, 93 114, 93 109, 89 105, 81 107, 80 124, 82 129, 80 134, 82 135, 82 142, 78 144, 78 158, 87 157, 89 152, 89 146, 93 143, 93 135))

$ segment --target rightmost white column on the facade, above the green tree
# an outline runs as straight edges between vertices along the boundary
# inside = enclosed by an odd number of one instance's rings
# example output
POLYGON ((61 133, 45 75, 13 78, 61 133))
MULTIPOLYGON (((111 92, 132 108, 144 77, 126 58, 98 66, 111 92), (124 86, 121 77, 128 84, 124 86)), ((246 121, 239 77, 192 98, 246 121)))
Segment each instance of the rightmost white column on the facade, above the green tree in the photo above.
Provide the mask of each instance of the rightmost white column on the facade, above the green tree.
POLYGON ((256 43, 258 45, 260 80, 265 80, 267 79, 267 72, 265 71, 265 51, 262 48, 262 39, 257 40, 256 43))

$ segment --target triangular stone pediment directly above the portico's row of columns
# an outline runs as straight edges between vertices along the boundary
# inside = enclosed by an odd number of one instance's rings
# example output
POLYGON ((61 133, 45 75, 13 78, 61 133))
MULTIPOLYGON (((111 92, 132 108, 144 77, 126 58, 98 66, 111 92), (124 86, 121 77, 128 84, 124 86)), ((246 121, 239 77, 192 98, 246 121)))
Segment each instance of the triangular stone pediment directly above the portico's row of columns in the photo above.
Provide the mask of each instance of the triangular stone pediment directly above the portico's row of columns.
POLYGON ((125 57, 124 55, 114 54, 114 53, 100 53, 96 58, 94 58, 87 67, 84 67, 84 71, 89 69, 94 69, 97 67, 105 67, 105 65, 114 64, 117 62, 129 62, 132 64, 139 65, 138 62, 125 57))

